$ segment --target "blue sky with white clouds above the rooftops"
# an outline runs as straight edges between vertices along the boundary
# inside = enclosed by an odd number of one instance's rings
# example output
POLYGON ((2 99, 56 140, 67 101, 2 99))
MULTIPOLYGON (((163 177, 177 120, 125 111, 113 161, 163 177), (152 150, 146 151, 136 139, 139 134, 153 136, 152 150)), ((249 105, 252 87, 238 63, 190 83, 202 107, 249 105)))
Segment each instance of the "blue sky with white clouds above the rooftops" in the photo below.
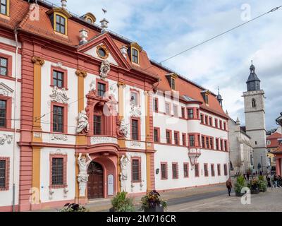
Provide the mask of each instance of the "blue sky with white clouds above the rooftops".
MULTIPOLYGON (((59 4, 59 0, 49 0, 59 4)), ((161 62, 195 44, 281 6, 281 0, 68 0, 72 13, 106 8, 109 30, 140 44, 161 62)), ((266 129, 282 112, 282 8, 163 63, 223 97, 223 109, 245 124, 243 92, 251 60, 265 92, 266 129)))

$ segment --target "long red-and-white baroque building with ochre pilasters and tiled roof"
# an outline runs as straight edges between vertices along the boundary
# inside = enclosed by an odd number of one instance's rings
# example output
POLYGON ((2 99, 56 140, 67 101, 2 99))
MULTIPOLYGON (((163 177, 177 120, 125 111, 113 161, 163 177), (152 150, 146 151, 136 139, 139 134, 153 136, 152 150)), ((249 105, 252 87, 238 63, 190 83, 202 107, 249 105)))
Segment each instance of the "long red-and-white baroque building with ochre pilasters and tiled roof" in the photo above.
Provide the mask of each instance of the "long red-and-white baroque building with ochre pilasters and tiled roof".
POLYGON ((0 210, 226 182, 216 95, 65 4, 1 8, 0 210))

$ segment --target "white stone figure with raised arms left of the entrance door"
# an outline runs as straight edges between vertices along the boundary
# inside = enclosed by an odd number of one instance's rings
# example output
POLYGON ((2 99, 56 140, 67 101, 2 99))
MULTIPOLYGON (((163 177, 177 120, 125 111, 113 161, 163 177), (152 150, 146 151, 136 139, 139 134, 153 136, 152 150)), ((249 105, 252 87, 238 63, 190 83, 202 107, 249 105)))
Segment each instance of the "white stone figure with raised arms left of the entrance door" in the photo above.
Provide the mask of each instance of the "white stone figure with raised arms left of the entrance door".
POLYGON ((88 165, 90 165, 90 162, 92 162, 92 158, 89 154, 86 156, 88 157, 88 161, 86 160, 86 157, 81 157, 81 153, 78 156, 78 166, 79 166, 79 174, 78 174, 78 183, 79 183, 79 190, 80 190, 80 197, 85 196, 85 189, 88 181, 88 174, 87 174, 87 168, 88 165))

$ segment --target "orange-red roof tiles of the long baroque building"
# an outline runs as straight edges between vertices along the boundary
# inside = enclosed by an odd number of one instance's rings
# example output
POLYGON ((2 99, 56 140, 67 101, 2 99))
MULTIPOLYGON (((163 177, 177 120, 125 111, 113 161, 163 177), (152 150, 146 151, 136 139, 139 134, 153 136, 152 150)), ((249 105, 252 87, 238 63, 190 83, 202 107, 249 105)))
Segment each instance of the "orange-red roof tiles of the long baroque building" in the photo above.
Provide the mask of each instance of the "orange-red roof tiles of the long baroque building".
MULTIPOLYGON (((61 42, 63 44, 68 44, 73 47, 78 47, 80 43, 79 32, 80 30, 82 30, 82 28, 86 28, 88 30, 89 40, 92 40, 101 34, 98 28, 94 28, 93 26, 78 20, 78 18, 69 18, 68 36, 63 37, 62 35, 56 35, 51 25, 51 20, 47 15, 47 11, 49 11, 50 8, 45 6, 44 4, 42 5, 42 3, 39 4, 40 4, 39 20, 30 20, 28 14, 29 4, 27 3, 27 1, 11 0, 11 7, 10 7, 11 19, 7 21, 1 19, 0 25, 11 29, 14 29, 16 28, 16 26, 18 26, 18 28, 26 32, 31 32, 35 35, 40 35, 47 39, 55 40, 56 42, 61 42)), ((111 37, 113 37, 114 43, 119 49, 123 45, 128 44, 128 42, 126 41, 122 42, 120 38, 114 37, 114 35, 111 35, 111 37)), ((147 57, 147 53, 144 50, 140 52, 139 66, 135 66, 135 64, 132 64, 130 62, 129 57, 126 60, 130 64, 130 66, 132 66, 137 71, 142 71, 142 72, 145 71, 145 73, 152 73, 154 74, 154 76, 159 76, 159 78, 161 78, 161 81, 158 86, 159 90, 163 90, 163 91, 171 90, 168 81, 166 79, 166 74, 170 73, 170 71, 167 71, 166 69, 161 68, 160 66, 151 64, 149 58, 147 57)), ((192 82, 186 81, 185 78, 179 77, 176 80, 176 91, 179 91, 180 95, 187 95, 192 99, 203 102, 201 106, 202 109, 207 109, 209 111, 215 112, 216 114, 228 118, 226 114, 223 112, 222 107, 219 105, 219 102, 216 100, 215 95, 213 94, 209 95, 209 105, 206 105, 201 95, 202 88, 200 88, 198 85, 193 84, 192 82)))

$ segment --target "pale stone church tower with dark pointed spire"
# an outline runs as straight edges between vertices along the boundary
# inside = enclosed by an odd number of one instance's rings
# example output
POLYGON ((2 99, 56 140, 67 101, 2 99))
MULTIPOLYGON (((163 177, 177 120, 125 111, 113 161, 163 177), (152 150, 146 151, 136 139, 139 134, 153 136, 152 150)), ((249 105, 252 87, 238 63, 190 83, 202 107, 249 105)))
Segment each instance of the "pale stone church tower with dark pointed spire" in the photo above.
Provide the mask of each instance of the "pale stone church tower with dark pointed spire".
POLYGON ((250 66, 250 76, 247 79, 247 92, 243 93, 245 102, 246 133, 251 137, 254 149, 254 166, 257 172, 267 171, 266 158, 266 127, 264 109, 264 90, 260 88, 260 80, 255 72, 255 66, 250 66))

